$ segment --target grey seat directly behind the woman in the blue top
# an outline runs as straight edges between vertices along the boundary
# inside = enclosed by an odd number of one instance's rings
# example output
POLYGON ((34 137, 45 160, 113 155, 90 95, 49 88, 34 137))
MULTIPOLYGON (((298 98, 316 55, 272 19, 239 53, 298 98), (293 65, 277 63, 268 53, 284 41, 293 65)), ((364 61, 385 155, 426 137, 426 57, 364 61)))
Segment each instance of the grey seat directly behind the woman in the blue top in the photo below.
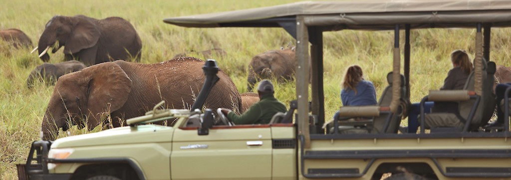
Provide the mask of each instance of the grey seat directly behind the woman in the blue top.
MULTIPOLYGON (((400 74, 401 77, 401 97, 405 98, 406 89, 405 89, 405 76, 400 74)), ((382 92, 382 96, 380 100, 378 100, 378 105, 380 107, 388 107, 390 106, 390 102, 392 102, 392 72, 387 74, 387 82, 388 86, 382 92)), ((388 123, 387 129, 383 129, 386 125, 387 116, 378 116, 374 118, 373 130, 371 133, 397 133, 399 124, 401 123, 401 115, 403 113, 403 108, 398 106, 396 112, 392 114, 390 117, 390 122, 388 123)))

